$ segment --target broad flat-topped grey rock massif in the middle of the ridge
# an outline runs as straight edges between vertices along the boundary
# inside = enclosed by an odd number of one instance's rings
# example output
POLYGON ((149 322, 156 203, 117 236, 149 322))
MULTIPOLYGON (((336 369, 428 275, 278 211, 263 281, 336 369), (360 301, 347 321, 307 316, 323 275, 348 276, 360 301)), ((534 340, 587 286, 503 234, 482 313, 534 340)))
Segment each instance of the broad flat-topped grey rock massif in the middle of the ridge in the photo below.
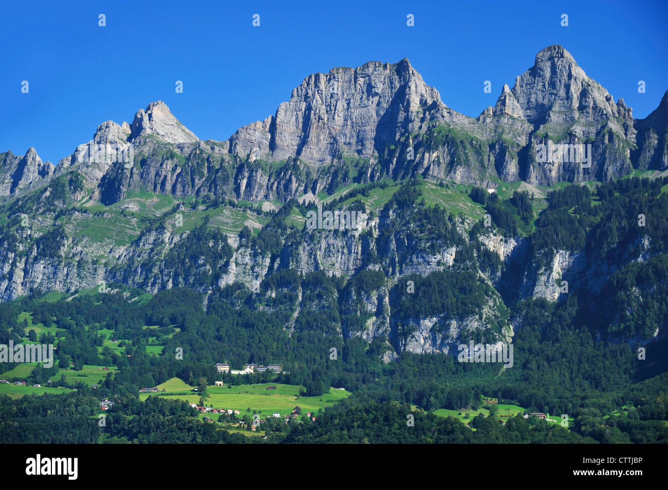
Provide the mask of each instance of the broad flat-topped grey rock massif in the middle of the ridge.
POLYGON ((371 61, 309 75, 273 117, 242 127, 230 149, 246 156, 283 160, 300 157, 330 163, 336 155, 370 158, 424 117, 426 107, 444 107, 407 59, 371 61))

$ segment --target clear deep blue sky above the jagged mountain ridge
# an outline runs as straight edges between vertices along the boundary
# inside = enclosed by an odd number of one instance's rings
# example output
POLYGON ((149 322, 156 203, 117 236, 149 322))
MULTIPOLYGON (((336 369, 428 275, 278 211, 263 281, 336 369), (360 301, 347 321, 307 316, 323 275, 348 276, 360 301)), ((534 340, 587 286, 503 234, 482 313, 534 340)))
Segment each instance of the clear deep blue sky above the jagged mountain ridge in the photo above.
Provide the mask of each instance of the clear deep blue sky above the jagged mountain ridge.
POLYGON ((23 155, 33 146, 57 163, 103 121, 132 123, 158 99, 200 139, 224 140, 273 115, 310 73, 403 57, 444 103, 473 117, 552 44, 615 101, 624 97, 635 117, 668 89, 665 0, 434 3, 3 2, 0 151, 23 155), (176 80, 184 93, 174 91, 176 80))

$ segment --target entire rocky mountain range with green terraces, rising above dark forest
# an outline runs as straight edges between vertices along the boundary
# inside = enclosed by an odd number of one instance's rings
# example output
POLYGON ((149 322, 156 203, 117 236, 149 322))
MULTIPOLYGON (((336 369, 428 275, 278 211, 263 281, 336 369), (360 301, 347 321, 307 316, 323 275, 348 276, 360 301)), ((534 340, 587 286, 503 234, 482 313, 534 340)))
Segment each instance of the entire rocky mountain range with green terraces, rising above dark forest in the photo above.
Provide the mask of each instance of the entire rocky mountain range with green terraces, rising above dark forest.
POLYGON ((186 286, 206 298, 239 285, 254 308, 289 309, 286 329, 311 328, 300 321, 305 310, 337 311, 329 328, 388 339, 388 359, 448 351, 478 334, 507 341, 521 319, 505 305, 564 301, 562 279, 598 293, 615 271, 661 249, 639 237, 613 259, 536 247, 533 224, 481 231, 476 223, 496 215, 471 187, 506 199, 530 193, 534 223, 549 186, 667 169, 668 91, 633 119, 557 45, 476 118, 450 109, 407 59, 309 75, 275 115, 226 141, 200 140, 157 101, 131 124, 102 123, 58 165, 33 147, 0 153, 0 299, 100 285, 186 286), (554 143, 591 145, 591 167, 540 161, 539 148, 554 143), (305 209, 316 205, 363 208, 365 231, 309 233, 305 209), (468 255, 475 265, 462 272, 468 255), (311 276, 323 273, 340 287, 321 281, 319 294, 311 276), (401 299, 407 281, 434 277, 468 291, 470 304, 414 311, 401 299), (288 304, 272 300, 281 288, 295 291, 288 304))

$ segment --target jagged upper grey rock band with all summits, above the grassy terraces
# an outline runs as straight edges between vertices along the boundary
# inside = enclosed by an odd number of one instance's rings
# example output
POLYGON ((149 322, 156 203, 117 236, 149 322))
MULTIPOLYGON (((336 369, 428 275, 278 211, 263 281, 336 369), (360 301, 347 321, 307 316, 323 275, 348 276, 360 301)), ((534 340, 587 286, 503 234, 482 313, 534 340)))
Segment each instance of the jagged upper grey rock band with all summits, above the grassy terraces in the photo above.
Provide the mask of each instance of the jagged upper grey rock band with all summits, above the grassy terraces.
MULTIPOLYGON (((55 174, 79 171, 106 204, 128 189, 287 202, 353 181, 418 175, 485 187, 496 178, 532 185, 607 181, 634 168, 668 168, 667 128, 667 96, 636 121, 623 99, 615 103, 555 45, 542 49, 476 119, 448 108, 407 59, 372 61, 309 75, 275 115, 228 141, 200 141, 162 101, 151 103, 132 125, 102 123, 92 140, 102 153, 130 146, 132 165, 113 157, 92 162, 87 144, 62 159, 55 174), (552 144, 570 145, 572 153, 541 159, 542 145, 552 144)), ((0 194, 54 173, 52 165, 25 158, 19 164, 3 154, 0 194)))

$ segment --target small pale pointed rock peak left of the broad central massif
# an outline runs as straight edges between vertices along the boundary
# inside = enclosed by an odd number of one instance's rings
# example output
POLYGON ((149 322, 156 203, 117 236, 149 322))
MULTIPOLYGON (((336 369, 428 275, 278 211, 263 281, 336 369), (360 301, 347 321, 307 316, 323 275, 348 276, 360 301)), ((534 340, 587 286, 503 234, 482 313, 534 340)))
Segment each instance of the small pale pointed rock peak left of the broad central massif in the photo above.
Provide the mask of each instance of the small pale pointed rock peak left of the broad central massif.
POLYGON ((167 143, 197 143, 199 138, 187 129, 169 110, 166 103, 150 103, 146 110, 139 109, 130 127, 130 139, 145 139, 151 134, 167 143))

